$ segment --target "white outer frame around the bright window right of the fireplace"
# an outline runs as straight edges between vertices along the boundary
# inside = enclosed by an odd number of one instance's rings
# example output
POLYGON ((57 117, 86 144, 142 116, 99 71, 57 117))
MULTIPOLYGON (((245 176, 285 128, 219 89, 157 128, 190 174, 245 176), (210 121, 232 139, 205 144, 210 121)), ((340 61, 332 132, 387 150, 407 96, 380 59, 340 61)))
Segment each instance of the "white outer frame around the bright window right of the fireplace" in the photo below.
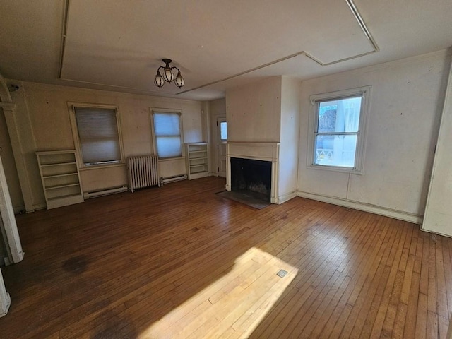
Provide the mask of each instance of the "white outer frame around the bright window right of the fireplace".
POLYGON ((308 133, 308 152, 307 168, 323 169, 334 172, 347 172, 353 174, 362 174, 364 164, 364 149, 366 142, 367 115, 369 114, 371 86, 359 88, 350 88, 347 90, 338 90, 330 93, 311 95, 309 97, 309 133, 308 133), (359 129, 357 132, 357 146, 355 152, 355 167, 341 167, 315 164, 316 131, 319 123, 319 103, 328 100, 340 100, 347 97, 361 96, 361 109, 359 112, 359 129))

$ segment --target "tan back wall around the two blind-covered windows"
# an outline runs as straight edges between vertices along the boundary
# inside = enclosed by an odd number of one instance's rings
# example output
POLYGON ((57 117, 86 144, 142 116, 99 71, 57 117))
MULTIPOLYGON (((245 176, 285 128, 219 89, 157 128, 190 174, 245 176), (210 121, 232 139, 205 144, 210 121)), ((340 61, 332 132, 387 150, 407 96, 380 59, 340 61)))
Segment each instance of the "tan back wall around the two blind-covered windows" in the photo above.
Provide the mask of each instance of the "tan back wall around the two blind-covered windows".
MULTIPOLYGON (((14 83, 19 83, 15 81, 14 83)), ((74 149, 68 102, 117 105, 124 145, 124 155, 154 153, 150 129, 150 108, 182 109, 184 142, 202 141, 202 102, 165 97, 131 95, 102 90, 87 90, 39 83, 20 83, 11 93, 20 119, 20 141, 25 157, 32 208, 44 207, 44 195, 34 152, 36 150, 74 149)), ((1 124, 1 121, 0 121, 1 124)), ((160 176, 184 174, 185 160, 162 160, 160 176)), ((83 169, 83 191, 107 189, 127 184, 126 167, 83 169)), ((16 188, 14 188, 16 189, 16 188)))

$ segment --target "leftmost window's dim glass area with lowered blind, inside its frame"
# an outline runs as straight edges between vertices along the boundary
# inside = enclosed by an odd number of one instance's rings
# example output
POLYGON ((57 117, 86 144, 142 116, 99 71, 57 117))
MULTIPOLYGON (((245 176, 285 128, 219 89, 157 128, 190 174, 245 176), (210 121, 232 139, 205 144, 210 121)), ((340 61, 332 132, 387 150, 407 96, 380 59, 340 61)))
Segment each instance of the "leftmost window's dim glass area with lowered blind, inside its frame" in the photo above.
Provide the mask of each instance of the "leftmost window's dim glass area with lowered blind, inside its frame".
POLYGON ((117 109, 73 107, 83 165, 109 165, 122 161, 117 109))

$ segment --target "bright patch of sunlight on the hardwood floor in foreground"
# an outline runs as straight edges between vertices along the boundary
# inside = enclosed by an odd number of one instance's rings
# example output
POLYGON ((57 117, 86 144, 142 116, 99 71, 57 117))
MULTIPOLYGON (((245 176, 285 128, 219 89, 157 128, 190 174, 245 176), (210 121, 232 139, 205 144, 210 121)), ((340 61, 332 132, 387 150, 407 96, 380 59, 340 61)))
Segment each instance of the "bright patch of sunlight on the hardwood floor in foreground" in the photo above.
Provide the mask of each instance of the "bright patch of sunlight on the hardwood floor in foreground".
POLYGON ((225 275, 153 323, 138 338, 218 338, 227 333, 247 338, 297 273, 296 268, 253 247, 239 256, 225 275), (277 275, 281 269, 287 271, 283 278, 277 275))

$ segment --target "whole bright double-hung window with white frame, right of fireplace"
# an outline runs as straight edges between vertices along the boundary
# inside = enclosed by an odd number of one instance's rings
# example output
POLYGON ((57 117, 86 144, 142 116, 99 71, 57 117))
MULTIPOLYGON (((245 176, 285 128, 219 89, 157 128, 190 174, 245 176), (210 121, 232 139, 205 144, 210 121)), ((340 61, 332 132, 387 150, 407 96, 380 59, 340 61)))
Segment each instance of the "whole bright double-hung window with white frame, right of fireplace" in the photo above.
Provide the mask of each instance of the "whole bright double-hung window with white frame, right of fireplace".
POLYGON ((309 167, 360 172, 370 87, 311 96, 309 167))

